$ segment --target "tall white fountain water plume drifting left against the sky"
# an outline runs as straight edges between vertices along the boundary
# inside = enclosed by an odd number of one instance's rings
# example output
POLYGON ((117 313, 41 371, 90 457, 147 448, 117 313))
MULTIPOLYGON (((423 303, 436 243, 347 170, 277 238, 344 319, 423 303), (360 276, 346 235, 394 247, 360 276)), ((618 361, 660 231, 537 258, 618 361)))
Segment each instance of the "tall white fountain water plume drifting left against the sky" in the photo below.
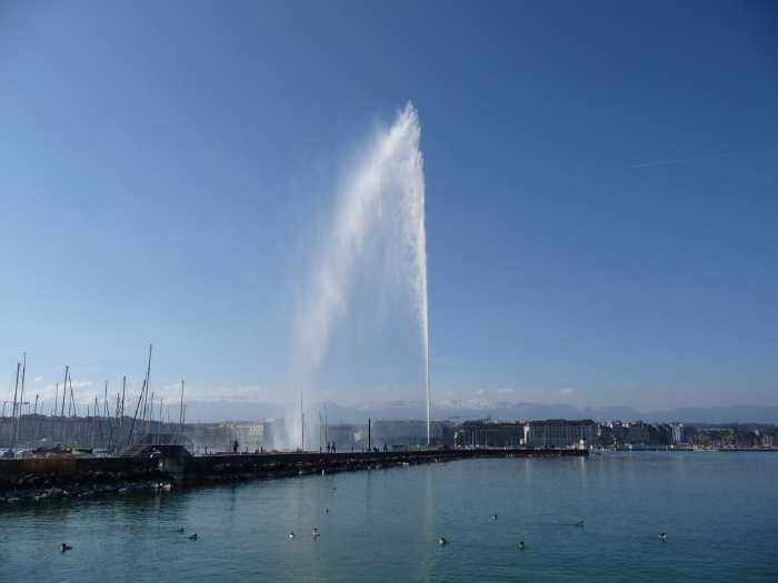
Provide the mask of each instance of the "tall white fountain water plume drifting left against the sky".
MULTIPOLYGON (((429 323, 425 175, 419 115, 408 103, 381 128, 338 192, 335 215, 311 272, 297 321, 296 370, 308 386, 329 349, 333 323, 349 310, 355 268, 376 237, 383 237, 378 262, 410 293, 418 320, 429 442, 429 323)), ((300 422, 299 412, 292 425, 300 422)), ((292 429, 292 443, 300 428, 292 429)))

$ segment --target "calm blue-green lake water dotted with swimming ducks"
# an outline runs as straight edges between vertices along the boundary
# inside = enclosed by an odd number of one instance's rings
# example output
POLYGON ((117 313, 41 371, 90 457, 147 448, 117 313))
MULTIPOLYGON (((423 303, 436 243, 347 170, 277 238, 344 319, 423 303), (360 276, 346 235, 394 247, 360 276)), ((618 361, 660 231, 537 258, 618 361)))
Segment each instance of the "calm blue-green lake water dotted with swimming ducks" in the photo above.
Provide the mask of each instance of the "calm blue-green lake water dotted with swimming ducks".
POLYGON ((776 581, 777 484, 776 453, 639 452, 63 501, 0 511, 0 581, 776 581))

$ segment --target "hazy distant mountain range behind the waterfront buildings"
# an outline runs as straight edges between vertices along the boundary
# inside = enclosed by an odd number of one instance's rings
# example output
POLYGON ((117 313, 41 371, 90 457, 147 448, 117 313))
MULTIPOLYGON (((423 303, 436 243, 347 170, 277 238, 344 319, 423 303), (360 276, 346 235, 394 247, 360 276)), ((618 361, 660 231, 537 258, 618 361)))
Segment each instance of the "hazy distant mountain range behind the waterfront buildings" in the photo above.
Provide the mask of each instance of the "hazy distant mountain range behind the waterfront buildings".
MULTIPOLYGON (((313 409, 326 406, 329 423, 365 423, 368 418, 379 419, 422 419, 422 403, 396 401, 382 404, 349 406, 338 403, 322 403, 313 409)), ((188 422, 217 422, 225 420, 252 421, 283 418, 285 405, 256 401, 190 401, 187 403, 188 422)), ((291 411, 289 410, 291 413, 291 411)), ((433 418, 437 420, 491 419, 493 421, 522 421, 530 419, 594 419, 595 421, 646 421, 685 423, 778 423, 778 406, 732 405, 721 408, 682 408, 667 411, 637 411, 627 406, 605 406, 579 409, 565 404, 511 403, 511 402, 452 402, 436 404, 433 418)))

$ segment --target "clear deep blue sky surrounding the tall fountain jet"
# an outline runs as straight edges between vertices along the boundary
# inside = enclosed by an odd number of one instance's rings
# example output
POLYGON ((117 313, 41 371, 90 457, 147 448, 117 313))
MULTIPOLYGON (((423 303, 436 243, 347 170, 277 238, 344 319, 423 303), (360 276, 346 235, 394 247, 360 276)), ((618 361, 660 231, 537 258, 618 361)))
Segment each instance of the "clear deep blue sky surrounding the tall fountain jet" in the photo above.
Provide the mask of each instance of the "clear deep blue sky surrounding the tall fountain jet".
MULTIPOLYGON (((758 1, 0 1, 0 395, 24 351, 28 395, 137 391, 152 343, 158 395, 295 399, 338 184, 410 101, 435 401, 778 405, 777 38, 758 1)), ((307 389, 421 400, 417 326, 351 301, 307 389)))

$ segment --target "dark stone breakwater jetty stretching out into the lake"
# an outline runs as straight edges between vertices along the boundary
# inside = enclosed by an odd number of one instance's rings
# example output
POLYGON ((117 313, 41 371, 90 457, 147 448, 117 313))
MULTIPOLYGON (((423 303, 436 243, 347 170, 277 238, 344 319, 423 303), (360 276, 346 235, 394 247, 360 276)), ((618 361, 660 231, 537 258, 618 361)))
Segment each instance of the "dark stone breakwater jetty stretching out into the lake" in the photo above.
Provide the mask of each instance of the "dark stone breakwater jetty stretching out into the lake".
POLYGON ((0 460, 0 504, 142 490, 378 470, 469 458, 580 456, 582 450, 421 450, 345 453, 238 453, 192 456, 160 448, 131 458, 51 456, 0 460))

